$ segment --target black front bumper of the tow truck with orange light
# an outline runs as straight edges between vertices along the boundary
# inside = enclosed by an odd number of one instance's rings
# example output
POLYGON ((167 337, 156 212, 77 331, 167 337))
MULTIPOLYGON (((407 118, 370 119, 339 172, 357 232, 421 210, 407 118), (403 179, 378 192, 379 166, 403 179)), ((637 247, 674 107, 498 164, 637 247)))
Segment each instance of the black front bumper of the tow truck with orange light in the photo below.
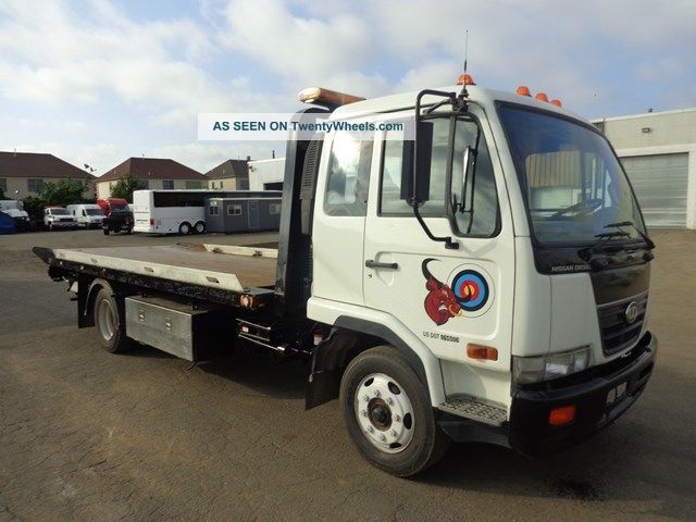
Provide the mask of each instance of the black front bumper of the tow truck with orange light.
POLYGON ((518 386, 510 409, 510 447, 526 455, 551 453, 581 443, 623 414, 645 389, 655 364, 657 338, 647 332, 626 355, 582 374, 518 386), (624 387, 625 385, 625 387, 624 387), (614 399, 617 389, 621 397, 614 399), (549 425, 549 413, 575 406, 572 423, 549 425))

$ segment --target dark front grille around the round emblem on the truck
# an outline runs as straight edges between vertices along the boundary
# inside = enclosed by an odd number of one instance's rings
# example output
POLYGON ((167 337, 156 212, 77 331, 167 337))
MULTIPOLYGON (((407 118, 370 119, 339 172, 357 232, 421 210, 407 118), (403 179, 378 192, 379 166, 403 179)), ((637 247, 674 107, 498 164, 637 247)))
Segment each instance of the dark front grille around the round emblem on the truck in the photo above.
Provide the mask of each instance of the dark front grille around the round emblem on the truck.
POLYGON ((599 330, 601 331, 601 343, 605 355, 610 356, 625 348, 629 348, 638 340, 643 323, 645 321, 645 310, 648 306, 648 293, 643 293, 629 299, 609 302, 597 307, 599 318, 599 330), (625 318, 626 307, 635 301, 638 306, 638 316, 635 322, 629 324, 625 318))

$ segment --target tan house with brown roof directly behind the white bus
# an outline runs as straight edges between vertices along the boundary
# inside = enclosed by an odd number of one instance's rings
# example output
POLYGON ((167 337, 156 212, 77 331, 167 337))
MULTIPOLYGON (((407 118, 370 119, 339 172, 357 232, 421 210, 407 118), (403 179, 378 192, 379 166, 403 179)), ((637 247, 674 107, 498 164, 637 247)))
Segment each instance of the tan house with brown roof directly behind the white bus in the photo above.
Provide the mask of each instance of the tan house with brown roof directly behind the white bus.
POLYGON ((127 174, 136 176, 140 188, 182 189, 207 188, 208 177, 174 160, 160 158, 129 158, 97 178, 97 197, 111 196, 111 187, 127 174))

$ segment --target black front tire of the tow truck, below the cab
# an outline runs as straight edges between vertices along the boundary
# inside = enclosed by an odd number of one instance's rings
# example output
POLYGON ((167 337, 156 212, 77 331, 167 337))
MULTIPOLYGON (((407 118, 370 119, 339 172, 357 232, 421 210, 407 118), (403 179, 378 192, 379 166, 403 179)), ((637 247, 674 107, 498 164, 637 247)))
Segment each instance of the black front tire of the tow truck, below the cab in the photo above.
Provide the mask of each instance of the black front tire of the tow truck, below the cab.
MULTIPOLYGON (((376 378, 374 383, 376 383, 376 378)), ((353 444, 370 463, 387 473, 396 476, 414 475, 437 462, 450 445, 449 437, 435 422, 435 413, 426 386, 421 382, 403 356, 393 347, 378 346, 356 357, 348 364, 340 381, 339 400, 344 420, 353 444), (373 414, 376 411, 373 401, 380 400, 374 398, 380 397, 380 395, 373 397, 364 393, 365 389, 370 389, 365 387, 365 383, 370 383, 370 378, 373 375, 380 375, 377 378, 383 381, 384 377, 387 377, 388 389, 396 394, 394 395, 397 399, 396 406, 388 407, 385 402, 385 400, 390 400, 391 397, 387 397, 382 400, 382 405, 376 406, 376 408, 382 408, 378 413, 388 418, 388 425, 384 422, 384 417, 382 418, 382 424, 373 422, 373 414), (356 402, 356 394, 360 394, 358 402, 356 402), (409 422, 410 427, 407 424, 408 415, 399 419, 399 415, 394 413, 399 409, 398 401, 403 400, 403 398, 398 398, 400 394, 405 394, 410 407, 409 411, 412 415, 409 422), (366 399, 369 397, 372 398, 368 402, 366 399), (365 400, 365 409, 360 410, 362 406, 360 401, 362 400, 365 400), (384 413, 385 409, 388 410, 387 413, 384 413), (359 417, 363 419, 359 420, 359 417), (361 426, 361 422, 368 423, 368 430, 372 424, 376 428, 373 428, 374 435, 370 435, 361 426), (407 434, 403 436, 410 436, 411 438, 403 445, 394 443, 394 447, 377 447, 381 443, 375 440, 376 436, 382 437, 383 434, 397 433, 396 430, 391 431, 391 427, 399 430, 400 434, 407 434), (409 430, 412 430, 410 435, 408 435, 409 430)))

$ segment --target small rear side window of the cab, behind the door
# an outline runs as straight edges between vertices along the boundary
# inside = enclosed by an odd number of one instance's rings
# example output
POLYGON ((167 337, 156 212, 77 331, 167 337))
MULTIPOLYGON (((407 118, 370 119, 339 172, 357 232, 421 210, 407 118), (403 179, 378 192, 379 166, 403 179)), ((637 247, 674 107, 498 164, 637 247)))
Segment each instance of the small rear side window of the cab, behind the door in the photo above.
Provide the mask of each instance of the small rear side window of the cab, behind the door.
POLYGON ((336 133, 324 196, 327 215, 366 214, 372 149, 372 140, 361 140, 352 133, 336 133))

